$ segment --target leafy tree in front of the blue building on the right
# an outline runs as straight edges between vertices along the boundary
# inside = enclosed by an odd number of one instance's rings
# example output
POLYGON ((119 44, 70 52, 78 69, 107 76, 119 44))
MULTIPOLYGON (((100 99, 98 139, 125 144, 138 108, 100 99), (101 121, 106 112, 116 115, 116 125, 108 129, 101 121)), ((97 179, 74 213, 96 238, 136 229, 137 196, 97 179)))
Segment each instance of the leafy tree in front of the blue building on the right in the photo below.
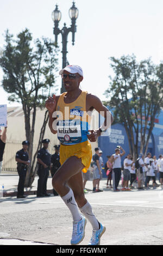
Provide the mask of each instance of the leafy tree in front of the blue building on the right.
POLYGON ((150 58, 138 63, 134 55, 110 60, 115 76, 110 77, 110 87, 105 91, 110 100, 105 104, 115 109, 115 122, 124 124, 130 153, 137 157, 139 138, 140 152, 147 152, 154 120, 162 106, 162 63, 156 66, 150 58))

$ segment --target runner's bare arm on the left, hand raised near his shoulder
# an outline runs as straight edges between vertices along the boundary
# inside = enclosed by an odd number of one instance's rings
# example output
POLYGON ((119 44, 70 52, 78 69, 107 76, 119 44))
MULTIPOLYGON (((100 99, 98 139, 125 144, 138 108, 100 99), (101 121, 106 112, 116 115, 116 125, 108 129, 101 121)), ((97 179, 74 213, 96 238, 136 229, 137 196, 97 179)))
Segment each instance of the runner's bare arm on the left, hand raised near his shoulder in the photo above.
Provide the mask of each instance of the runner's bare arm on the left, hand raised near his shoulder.
POLYGON ((52 133, 56 134, 57 131, 53 130, 53 121, 57 118, 53 118, 53 113, 56 111, 56 107, 57 107, 57 102, 58 102, 59 96, 55 96, 53 95, 53 97, 48 97, 45 106, 48 109, 49 112, 49 129, 51 130, 52 133))

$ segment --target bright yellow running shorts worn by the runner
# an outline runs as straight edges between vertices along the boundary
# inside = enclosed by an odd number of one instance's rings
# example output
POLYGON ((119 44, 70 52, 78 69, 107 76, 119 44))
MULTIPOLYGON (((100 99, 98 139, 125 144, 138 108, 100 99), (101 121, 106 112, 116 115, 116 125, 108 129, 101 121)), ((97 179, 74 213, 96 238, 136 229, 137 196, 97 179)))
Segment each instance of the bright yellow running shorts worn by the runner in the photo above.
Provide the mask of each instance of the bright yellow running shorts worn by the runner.
POLYGON ((63 164, 70 156, 77 156, 82 159, 85 166, 83 173, 87 172, 92 160, 92 148, 88 141, 76 145, 60 145, 60 163, 63 164))

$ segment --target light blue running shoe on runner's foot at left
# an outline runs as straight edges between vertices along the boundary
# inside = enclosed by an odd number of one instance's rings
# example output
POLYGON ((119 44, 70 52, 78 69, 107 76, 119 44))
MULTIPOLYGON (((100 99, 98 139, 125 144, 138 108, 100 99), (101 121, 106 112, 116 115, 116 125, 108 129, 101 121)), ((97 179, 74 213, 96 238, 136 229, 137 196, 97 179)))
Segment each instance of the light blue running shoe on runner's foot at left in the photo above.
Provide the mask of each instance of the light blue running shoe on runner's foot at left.
POLYGON ((71 245, 78 245, 80 242, 83 241, 85 236, 85 225, 86 218, 84 216, 82 216, 81 221, 73 222, 71 245))

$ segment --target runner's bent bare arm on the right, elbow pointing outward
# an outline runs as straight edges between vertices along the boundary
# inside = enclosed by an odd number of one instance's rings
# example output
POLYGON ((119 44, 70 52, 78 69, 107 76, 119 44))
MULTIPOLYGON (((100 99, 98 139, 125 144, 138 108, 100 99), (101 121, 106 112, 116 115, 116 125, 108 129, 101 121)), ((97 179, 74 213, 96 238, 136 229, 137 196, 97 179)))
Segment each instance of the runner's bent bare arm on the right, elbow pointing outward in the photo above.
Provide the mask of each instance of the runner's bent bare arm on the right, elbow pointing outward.
MULTIPOLYGON (((114 120, 109 109, 103 105, 103 103, 97 96, 92 94, 87 94, 86 111, 89 111, 90 109, 93 109, 93 108, 95 108, 96 111, 98 111, 98 113, 103 115, 103 117, 105 118, 104 123, 102 124, 101 127, 99 127, 99 129, 102 129, 102 130, 108 129, 114 120)), ((93 130, 90 131, 91 134, 88 135, 87 137, 90 139, 91 142, 96 142, 97 137, 101 135, 101 131, 99 129, 96 131, 93 131, 93 130)))

